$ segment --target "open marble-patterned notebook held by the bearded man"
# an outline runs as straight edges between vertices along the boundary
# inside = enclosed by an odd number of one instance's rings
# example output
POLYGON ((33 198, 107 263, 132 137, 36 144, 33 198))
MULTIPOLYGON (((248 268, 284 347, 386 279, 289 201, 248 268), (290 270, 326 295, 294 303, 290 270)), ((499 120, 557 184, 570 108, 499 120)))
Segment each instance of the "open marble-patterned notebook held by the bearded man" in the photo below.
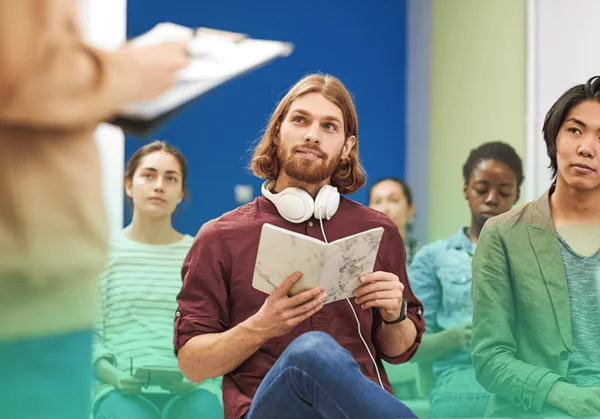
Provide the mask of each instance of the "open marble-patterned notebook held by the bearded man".
POLYGON ((323 286, 327 303, 352 297, 359 277, 373 272, 383 228, 377 227, 331 243, 264 224, 261 231, 252 286, 270 294, 292 273, 302 278, 291 290, 323 286))

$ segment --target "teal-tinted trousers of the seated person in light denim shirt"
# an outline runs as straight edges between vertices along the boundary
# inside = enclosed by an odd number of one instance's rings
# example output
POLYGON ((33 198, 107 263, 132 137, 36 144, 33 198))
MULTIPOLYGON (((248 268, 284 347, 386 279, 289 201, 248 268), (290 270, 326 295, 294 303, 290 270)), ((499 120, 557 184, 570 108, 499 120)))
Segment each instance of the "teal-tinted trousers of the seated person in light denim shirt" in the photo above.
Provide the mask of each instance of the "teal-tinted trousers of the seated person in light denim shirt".
POLYGON ((482 418, 490 394, 475 379, 472 367, 445 371, 431 390, 430 418, 482 418))

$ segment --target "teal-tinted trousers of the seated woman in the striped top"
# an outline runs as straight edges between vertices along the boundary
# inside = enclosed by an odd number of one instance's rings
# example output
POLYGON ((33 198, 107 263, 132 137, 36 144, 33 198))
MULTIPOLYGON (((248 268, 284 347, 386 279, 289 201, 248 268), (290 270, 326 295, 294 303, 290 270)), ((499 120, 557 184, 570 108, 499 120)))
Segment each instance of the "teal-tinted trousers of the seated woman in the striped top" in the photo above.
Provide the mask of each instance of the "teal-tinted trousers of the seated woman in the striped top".
MULTIPOLYGON (((162 396, 162 395, 160 395, 162 396)), ((113 390, 95 404, 94 419, 222 419, 217 396, 198 389, 181 396, 124 396, 113 390), (162 399, 162 400, 161 400, 162 399), (166 403, 162 403, 166 401, 166 403), (162 406, 164 404, 164 407, 162 406)))

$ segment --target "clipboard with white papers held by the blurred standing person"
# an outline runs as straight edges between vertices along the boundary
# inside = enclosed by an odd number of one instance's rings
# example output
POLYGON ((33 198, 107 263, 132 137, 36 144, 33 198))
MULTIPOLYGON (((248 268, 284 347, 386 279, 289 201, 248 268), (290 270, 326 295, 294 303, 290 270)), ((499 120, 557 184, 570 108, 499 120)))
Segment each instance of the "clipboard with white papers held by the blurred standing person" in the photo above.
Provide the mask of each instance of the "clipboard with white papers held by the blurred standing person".
POLYGON ((127 104, 107 122, 133 135, 148 137, 219 86, 287 57, 294 49, 288 42, 252 39, 243 33, 189 28, 169 22, 159 23, 131 44, 142 47, 185 39, 189 39, 190 64, 178 73, 175 85, 156 98, 127 104))

